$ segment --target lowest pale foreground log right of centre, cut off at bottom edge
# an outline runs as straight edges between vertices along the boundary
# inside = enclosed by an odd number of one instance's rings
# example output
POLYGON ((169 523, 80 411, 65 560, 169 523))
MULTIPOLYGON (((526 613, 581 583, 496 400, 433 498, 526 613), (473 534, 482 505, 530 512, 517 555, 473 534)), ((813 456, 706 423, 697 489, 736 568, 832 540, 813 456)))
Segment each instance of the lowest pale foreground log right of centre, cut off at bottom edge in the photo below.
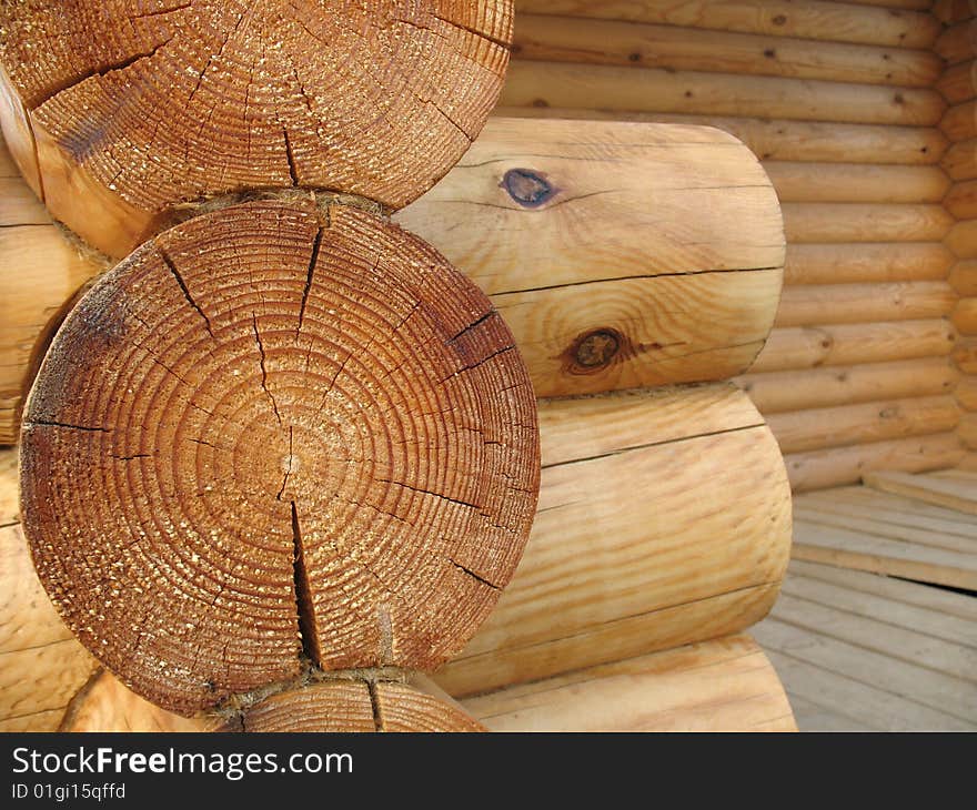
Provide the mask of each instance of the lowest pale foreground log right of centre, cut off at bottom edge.
POLYGON ((774 668, 745 635, 511 687, 465 707, 492 731, 794 731, 774 668))

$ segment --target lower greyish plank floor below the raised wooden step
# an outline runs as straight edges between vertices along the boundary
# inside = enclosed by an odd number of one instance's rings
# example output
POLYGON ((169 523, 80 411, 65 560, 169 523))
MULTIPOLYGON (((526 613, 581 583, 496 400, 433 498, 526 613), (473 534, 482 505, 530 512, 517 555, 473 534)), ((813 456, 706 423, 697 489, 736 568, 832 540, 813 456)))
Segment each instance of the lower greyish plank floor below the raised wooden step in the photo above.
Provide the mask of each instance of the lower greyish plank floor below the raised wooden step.
POLYGON ((977 600, 792 560, 754 635, 803 731, 977 729, 977 600))

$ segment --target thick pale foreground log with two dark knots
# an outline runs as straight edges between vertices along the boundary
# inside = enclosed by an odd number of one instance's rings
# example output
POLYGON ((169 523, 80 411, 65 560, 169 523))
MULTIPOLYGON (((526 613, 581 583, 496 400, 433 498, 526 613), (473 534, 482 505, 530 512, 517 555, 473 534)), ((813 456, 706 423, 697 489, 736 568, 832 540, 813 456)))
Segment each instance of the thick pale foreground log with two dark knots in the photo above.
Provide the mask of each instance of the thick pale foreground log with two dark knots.
POLYGON ((395 220, 490 294, 537 396, 728 377, 776 311, 776 195, 715 130, 493 119, 395 220))

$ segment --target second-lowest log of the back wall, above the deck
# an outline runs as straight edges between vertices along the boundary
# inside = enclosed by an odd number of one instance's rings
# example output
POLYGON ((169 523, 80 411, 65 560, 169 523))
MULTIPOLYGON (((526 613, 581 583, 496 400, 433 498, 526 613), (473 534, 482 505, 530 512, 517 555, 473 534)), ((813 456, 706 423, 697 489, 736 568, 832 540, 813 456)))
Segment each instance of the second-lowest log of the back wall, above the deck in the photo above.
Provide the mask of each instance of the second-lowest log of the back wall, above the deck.
POLYGON ((949 433, 959 419, 956 401, 944 395, 770 414, 767 424, 788 455, 949 433))

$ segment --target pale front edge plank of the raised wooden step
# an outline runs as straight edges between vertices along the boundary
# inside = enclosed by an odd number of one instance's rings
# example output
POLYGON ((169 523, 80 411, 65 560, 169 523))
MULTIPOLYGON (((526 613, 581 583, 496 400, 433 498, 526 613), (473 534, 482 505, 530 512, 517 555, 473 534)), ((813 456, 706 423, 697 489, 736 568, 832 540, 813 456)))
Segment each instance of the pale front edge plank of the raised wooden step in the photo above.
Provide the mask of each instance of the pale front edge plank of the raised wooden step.
POLYGON ((977 557, 797 520, 793 556, 926 583, 977 588, 977 557))

